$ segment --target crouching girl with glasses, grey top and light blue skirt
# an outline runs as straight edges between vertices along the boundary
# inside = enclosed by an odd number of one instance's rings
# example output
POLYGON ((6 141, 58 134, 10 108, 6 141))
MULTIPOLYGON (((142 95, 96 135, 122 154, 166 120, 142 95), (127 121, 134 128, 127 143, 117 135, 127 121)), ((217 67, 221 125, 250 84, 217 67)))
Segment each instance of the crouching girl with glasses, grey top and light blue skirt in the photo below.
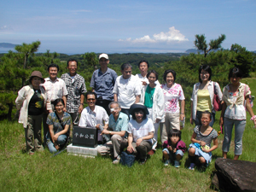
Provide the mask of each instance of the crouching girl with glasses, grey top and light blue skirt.
POLYGON ((201 125, 194 128, 189 145, 189 169, 195 169, 195 163, 208 166, 212 160, 212 151, 218 148, 218 132, 210 126, 212 114, 209 111, 201 113, 201 125), (213 146, 211 143, 213 140, 213 146), (199 163, 197 163, 199 161, 199 163))

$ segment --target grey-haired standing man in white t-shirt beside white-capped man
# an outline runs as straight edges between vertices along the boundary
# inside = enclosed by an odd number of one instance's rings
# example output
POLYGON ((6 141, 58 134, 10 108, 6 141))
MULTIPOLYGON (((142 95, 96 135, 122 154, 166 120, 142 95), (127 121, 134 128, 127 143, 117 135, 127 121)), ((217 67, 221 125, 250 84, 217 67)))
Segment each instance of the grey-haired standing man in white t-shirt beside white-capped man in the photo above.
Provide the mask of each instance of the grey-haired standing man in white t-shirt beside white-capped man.
POLYGON ((140 101, 141 89, 137 86, 137 78, 131 74, 131 64, 121 66, 121 73, 113 87, 113 101, 119 102, 121 112, 129 116, 129 108, 132 104, 140 101))

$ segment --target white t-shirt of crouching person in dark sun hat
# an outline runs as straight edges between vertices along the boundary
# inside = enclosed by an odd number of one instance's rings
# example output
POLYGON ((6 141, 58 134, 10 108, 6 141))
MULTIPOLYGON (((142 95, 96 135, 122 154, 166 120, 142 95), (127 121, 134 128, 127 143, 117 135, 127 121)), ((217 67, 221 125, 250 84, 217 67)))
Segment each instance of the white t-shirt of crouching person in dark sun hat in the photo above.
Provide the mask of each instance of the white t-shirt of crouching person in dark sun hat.
POLYGON ((135 119, 131 119, 129 121, 127 132, 132 134, 133 142, 137 142, 137 139, 148 136, 149 132, 154 132, 153 121, 146 118, 143 119, 143 122, 139 124, 135 119))

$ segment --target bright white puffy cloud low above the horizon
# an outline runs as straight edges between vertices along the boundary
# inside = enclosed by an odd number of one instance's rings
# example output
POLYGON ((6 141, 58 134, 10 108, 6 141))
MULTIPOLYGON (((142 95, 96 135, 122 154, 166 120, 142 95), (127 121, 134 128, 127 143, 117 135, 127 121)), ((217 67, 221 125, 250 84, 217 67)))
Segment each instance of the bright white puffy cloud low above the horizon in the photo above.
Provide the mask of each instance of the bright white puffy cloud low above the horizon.
POLYGON ((145 35, 143 38, 126 38, 125 40, 119 39, 119 41, 131 42, 134 44, 137 43, 160 43, 160 42, 182 42, 189 41, 188 38, 175 29, 174 26, 169 28, 169 32, 160 32, 159 34, 154 34, 153 38, 150 38, 149 35, 145 35))

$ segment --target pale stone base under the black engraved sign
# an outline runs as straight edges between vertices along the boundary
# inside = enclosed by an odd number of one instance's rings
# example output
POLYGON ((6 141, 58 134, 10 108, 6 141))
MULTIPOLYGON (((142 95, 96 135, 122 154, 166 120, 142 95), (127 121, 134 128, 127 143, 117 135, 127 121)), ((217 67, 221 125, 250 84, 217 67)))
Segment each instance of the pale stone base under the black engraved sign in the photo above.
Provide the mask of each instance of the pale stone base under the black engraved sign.
POLYGON ((73 144, 69 144, 67 146, 67 154, 74 154, 84 157, 95 158, 97 156, 99 145, 96 148, 86 148, 80 146, 73 146, 73 144))

